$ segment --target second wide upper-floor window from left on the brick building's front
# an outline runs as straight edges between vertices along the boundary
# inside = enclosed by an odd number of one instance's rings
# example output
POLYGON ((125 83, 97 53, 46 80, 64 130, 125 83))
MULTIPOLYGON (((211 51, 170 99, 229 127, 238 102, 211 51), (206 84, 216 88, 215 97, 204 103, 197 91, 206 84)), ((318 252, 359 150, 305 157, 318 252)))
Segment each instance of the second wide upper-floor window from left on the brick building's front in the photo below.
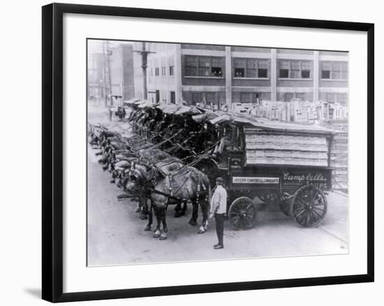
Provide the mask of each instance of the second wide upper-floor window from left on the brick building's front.
POLYGON ((268 77, 268 60, 236 58, 233 66, 234 77, 268 77))

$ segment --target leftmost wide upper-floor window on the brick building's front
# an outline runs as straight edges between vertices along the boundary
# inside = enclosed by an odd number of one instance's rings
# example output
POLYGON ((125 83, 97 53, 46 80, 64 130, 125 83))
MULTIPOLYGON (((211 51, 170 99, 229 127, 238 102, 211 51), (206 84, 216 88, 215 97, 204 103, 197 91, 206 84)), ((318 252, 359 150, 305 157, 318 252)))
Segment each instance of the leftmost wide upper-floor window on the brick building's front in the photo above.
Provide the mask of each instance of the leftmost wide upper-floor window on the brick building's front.
POLYGON ((223 58, 186 55, 185 75, 188 77, 223 77, 223 58))

